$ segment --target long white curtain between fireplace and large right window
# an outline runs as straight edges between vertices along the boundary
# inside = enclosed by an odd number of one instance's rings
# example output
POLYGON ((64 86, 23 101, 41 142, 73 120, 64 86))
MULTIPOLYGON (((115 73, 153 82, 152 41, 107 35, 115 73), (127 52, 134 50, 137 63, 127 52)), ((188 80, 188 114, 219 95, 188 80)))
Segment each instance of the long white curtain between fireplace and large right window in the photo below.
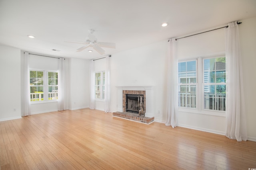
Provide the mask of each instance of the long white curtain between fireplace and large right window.
POLYGON ((178 55, 177 41, 174 38, 168 42, 167 59, 167 116, 165 125, 174 128, 178 123, 178 55))

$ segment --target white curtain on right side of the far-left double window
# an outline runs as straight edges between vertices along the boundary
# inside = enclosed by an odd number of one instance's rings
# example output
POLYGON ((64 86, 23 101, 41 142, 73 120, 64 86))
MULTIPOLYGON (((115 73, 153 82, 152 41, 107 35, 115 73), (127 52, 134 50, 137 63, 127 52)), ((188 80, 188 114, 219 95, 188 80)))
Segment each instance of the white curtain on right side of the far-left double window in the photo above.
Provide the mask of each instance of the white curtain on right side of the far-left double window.
POLYGON ((65 59, 60 58, 58 60, 58 111, 65 109, 66 104, 66 69, 65 59))

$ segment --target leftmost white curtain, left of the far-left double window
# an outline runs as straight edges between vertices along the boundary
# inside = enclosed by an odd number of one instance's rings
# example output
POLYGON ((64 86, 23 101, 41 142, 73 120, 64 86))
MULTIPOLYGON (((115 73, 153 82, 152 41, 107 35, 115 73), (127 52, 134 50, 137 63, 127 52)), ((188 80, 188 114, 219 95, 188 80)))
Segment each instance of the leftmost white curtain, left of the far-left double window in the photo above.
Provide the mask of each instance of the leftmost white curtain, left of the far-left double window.
POLYGON ((22 63, 22 90, 21 90, 21 115, 31 115, 30 109, 30 80, 29 80, 29 55, 24 53, 24 59, 22 63))

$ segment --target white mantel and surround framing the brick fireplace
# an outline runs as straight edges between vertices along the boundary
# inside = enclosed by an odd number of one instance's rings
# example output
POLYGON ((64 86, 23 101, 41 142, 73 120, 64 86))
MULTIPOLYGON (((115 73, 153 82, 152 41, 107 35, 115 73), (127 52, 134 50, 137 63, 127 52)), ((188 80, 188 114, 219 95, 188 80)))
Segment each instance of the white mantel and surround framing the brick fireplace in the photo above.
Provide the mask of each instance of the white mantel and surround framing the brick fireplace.
POLYGON ((154 87, 153 86, 116 86, 118 89, 118 97, 117 97, 117 104, 118 104, 118 111, 123 111, 123 90, 144 90, 146 91, 146 117, 154 117, 154 87))

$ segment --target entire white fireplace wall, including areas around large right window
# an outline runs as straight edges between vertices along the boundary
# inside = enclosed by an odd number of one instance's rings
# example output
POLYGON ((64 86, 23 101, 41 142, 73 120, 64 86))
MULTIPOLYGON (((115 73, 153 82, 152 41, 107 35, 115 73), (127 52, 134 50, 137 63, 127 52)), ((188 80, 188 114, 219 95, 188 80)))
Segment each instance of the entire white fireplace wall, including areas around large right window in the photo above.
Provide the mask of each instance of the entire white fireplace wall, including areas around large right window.
MULTIPOLYGON (((239 25, 244 68, 244 90, 246 96, 246 115, 248 139, 256 141, 256 114, 254 90, 256 63, 256 18, 242 20, 239 25)), ((203 56, 225 51, 224 29, 202 33, 178 40, 178 56, 203 56)), ((157 42, 136 49, 112 54, 111 57, 111 111, 117 111, 116 86, 154 86, 155 120, 166 121, 166 53, 167 41, 157 42), (129 71, 127 71, 129 70, 129 71), (158 114, 160 113, 160 114, 158 114)), ((225 117, 199 113, 181 112, 179 126, 224 135, 225 117)))

